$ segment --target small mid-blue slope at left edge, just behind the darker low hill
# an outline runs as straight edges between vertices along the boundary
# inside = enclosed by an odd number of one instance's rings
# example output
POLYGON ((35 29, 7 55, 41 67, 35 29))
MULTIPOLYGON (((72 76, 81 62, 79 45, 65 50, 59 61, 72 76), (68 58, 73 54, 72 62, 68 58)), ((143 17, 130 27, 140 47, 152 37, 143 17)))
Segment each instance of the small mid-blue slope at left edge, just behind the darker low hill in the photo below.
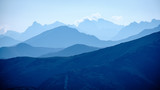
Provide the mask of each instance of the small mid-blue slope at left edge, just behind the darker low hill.
POLYGON ((0 47, 16 45, 19 42, 20 41, 15 40, 11 37, 0 35, 0 47))

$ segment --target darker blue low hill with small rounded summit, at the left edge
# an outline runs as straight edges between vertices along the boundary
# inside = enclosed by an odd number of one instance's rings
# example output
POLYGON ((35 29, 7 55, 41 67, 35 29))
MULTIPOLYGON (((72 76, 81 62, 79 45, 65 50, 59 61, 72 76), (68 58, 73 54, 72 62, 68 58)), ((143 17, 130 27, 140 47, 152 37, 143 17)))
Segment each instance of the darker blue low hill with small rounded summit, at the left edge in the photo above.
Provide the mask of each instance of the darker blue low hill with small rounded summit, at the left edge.
POLYGON ((32 47, 25 43, 20 43, 12 47, 1 47, 0 58, 13 58, 13 57, 38 57, 46 53, 57 52, 61 49, 43 48, 43 47, 32 47))

